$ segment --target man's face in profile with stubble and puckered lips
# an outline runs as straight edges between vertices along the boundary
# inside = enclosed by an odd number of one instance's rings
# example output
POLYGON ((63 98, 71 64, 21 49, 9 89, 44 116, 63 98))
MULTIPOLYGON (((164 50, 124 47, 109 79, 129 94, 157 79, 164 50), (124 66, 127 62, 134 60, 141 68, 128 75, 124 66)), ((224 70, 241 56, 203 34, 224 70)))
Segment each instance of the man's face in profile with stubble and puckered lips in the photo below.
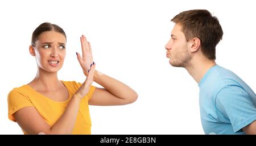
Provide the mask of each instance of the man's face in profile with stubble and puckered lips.
POLYGON ((189 43, 185 35, 181 31, 180 24, 175 24, 171 32, 171 39, 166 44, 166 57, 175 67, 185 67, 191 60, 191 52, 189 51, 189 43))

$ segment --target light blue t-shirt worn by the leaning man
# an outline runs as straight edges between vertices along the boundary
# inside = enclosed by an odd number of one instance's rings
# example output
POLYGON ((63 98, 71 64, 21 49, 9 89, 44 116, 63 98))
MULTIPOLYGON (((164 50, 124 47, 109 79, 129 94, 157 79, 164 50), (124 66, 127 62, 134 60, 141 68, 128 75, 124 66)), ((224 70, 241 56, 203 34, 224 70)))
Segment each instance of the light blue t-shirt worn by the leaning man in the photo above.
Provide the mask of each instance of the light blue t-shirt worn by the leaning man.
POLYGON ((205 134, 245 134, 256 120, 256 95, 236 74, 214 65, 199 82, 201 123, 205 134))

